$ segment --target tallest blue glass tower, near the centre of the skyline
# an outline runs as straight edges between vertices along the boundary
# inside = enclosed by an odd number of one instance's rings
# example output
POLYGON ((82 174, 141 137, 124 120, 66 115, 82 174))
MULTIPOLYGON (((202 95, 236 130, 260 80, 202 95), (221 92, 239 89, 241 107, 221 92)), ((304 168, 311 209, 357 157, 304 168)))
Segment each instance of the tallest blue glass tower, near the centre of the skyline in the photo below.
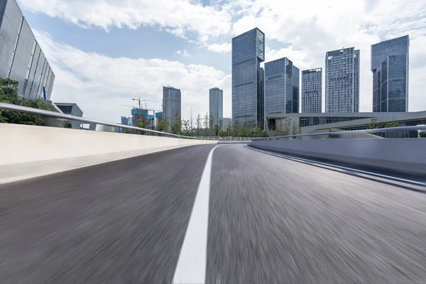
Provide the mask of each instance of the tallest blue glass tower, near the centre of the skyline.
POLYGON ((261 30, 254 28, 232 38, 232 119, 251 129, 263 127, 264 60, 265 34, 261 30))

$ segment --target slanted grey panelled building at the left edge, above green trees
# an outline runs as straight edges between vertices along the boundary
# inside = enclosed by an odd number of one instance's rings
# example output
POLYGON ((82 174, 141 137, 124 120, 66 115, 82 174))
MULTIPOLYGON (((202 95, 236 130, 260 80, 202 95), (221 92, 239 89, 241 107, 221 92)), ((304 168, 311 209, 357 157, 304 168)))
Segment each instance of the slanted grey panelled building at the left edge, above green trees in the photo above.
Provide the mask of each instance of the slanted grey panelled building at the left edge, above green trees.
POLYGON ((21 97, 50 100, 55 74, 16 0, 0 0, 0 77, 18 81, 21 97))

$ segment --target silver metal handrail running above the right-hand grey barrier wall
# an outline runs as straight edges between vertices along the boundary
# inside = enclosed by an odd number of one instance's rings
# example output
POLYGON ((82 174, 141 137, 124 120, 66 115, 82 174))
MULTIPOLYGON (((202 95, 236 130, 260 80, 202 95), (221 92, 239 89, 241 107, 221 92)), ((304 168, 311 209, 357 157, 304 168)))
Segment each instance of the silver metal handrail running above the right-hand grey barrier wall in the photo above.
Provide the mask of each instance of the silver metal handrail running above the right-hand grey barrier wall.
POLYGON ((350 136, 354 134, 363 134, 363 133, 370 134, 370 133, 416 131, 416 130, 426 130, 426 126, 400 126, 400 127, 389 127, 384 129, 362 129, 362 130, 352 130, 352 131, 306 133, 306 134, 274 136, 274 137, 266 137, 266 138, 253 138, 253 140, 281 140, 285 138, 302 138, 302 137, 308 137, 308 136, 346 136, 346 135, 350 136))

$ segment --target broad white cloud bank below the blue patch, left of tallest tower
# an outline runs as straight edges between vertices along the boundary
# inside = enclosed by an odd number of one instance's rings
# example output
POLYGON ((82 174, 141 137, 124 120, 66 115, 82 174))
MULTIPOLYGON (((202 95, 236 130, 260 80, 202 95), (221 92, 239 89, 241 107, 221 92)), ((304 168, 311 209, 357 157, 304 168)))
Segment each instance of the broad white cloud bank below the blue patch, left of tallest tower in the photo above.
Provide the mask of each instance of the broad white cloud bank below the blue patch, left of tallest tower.
POLYGON ((54 102, 77 102, 84 116, 117 122, 129 116, 132 98, 155 100, 148 107, 161 108, 163 86, 180 88, 182 116, 190 107, 194 116, 208 111, 209 88, 224 89, 224 114, 231 114, 231 77, 205 65, 185 65, 162 59, 109 58, 85 53, 70 45, 53 42, 50 35, 35 31, 35 37, 56 75, 54 102))

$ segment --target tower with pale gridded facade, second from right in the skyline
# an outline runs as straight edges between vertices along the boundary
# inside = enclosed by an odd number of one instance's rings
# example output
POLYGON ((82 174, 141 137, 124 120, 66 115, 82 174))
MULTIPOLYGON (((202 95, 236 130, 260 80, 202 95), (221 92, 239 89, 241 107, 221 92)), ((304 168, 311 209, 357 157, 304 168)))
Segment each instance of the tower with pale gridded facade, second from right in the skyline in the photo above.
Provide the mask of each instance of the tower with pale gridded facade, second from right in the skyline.
POLYGON ((325 55, 325 112, 359 111, 359 50, 342 48, 325 55))

